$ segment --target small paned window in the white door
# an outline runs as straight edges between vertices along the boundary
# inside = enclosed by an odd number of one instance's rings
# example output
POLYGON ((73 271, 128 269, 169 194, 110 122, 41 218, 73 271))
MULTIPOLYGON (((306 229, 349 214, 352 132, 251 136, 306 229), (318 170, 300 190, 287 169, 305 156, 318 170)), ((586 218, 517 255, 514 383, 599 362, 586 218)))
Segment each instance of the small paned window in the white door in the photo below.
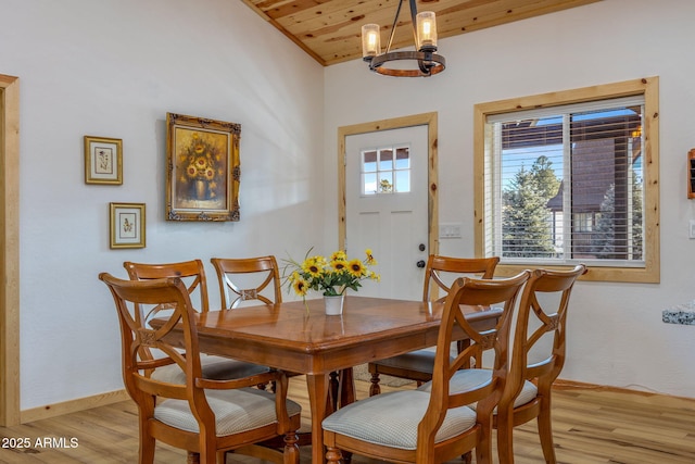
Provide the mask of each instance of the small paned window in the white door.
POLYGON ((362 193, 410 191, 410 149, 387 147, 362 152, 362 193))

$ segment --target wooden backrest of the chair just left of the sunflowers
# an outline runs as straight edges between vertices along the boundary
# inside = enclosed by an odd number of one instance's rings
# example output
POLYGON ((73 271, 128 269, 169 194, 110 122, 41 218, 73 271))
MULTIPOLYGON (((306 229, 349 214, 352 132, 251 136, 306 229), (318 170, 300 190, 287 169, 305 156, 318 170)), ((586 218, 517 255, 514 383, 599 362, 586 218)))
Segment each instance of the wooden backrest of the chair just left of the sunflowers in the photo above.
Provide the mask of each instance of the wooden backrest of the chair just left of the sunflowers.
POLYGON ((217 272, 224 308, 232 309, 247 301, 281 303, 280 273, 275 256, 210 260, 217 272))

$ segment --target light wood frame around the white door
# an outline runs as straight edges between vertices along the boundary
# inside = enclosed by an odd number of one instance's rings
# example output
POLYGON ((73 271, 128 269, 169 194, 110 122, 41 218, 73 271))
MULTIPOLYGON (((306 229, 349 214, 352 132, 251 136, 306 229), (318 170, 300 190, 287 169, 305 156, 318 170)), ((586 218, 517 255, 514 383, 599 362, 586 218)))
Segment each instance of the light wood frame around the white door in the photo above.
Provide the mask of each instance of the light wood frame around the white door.
POLYGON ((345 151, 348 136, 377 133, 381 130, 402 129, 413 126, 427 126, 427 236, 430 254, 439 253, 439 196, 438 196, 438 127, 437 112, 414 114, 412 116, 395 117, 392 120, 374 121, 370 123, 355 124, 338 128, 338 246, 345 249, 348 234, 346 223, 346 193, 345 193, 345 164, 348 153, 345 151))

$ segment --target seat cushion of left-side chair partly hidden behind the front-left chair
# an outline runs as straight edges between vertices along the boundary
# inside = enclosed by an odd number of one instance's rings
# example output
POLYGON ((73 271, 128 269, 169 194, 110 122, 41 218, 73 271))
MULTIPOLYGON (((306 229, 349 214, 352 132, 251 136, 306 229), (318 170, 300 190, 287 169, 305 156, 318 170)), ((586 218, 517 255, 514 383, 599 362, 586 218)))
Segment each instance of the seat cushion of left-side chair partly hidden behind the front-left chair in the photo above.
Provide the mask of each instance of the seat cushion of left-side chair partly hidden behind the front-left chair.
MULTIPOLYGON (((243 378, 269 371, 268 367, 258 364, 208 354, 200 355, 200 364, 203 372, 203 378, 208 378, 211 380, 243 378)), ((181 371, 178 364, 170 364, 168 366, 156 368, 152 373, 152 378, 169 384, 186 385, 186 373, 181 371)))

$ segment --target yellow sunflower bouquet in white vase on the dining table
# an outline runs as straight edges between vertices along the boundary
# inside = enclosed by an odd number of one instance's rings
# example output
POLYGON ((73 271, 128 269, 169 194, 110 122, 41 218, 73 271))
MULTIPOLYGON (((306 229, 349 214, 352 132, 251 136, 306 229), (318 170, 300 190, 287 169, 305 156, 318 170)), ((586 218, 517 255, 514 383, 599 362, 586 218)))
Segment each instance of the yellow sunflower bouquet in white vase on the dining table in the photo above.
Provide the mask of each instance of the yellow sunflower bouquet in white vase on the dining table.
POLYGON ((346 289, 357 291, 365 279, 379 280, 379 274, 369 269, 377 264, 371 250, 365 250, 364 260, 349 259, 344 251, 336 251, 327 259, 321 255, 311 255, 312 249, 306 252, 302 263, 291 258, 285 260, 282 275, 288 283, 288 290, 293 289, 296 294, 304 298, 309 290, 318 290, 325 297, 338 297, 344 294, 346 289))

